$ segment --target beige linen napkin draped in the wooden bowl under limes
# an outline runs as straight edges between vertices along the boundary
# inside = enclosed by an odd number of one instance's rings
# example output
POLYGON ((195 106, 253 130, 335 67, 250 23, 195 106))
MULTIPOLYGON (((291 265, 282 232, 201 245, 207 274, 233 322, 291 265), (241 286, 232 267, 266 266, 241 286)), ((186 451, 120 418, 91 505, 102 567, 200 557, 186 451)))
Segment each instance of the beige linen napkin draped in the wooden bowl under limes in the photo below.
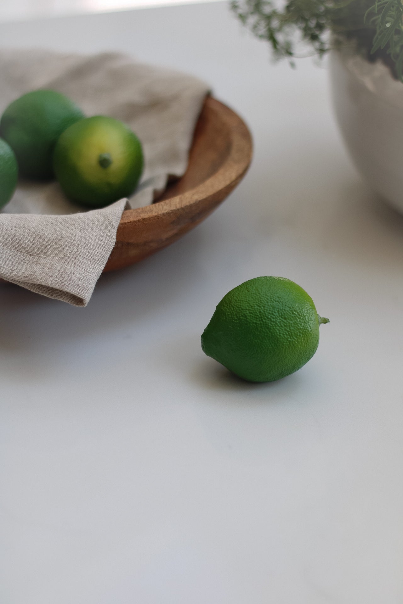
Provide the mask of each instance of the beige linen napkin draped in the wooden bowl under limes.
MULTIPOLYGON (((143 143, 145 166, 128 204, 152 203, 169 175, 187 167, 193 130, 208 86, 195 77, 137 63, 130 57, 0 51, 0 113, 24 92, 51 88, 86 115, 123 120, 143 143)), ((1 186, 1 182, 0 182, 1 186)), ((86 306, 112 248, 122 199, 83 211, 57 182, 20 182, 0 214, 0 277, 31 291, 86 306)))

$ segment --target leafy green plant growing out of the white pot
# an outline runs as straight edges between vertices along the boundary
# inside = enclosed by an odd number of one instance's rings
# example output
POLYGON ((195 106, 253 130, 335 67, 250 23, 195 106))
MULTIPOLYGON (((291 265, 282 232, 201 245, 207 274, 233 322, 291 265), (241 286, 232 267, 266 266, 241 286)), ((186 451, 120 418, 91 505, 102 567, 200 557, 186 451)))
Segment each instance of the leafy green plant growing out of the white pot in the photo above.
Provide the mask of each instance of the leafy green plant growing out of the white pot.
POLYGON ((334 43, 355 43, 369 59, 381 57, 403 80, 403 5, 401 0, 231 0, 243 25, 267 40, 276 58, 298 56, 310 48, 322 57, 334 43))

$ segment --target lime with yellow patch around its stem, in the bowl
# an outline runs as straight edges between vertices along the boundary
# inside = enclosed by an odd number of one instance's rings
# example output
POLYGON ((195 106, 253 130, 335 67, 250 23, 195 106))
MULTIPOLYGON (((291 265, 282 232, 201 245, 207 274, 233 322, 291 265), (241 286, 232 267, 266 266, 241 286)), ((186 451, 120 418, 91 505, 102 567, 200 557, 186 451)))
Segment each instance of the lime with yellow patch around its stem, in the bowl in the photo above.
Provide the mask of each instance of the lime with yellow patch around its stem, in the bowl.
POLYGON ((68 198, 100 208, 133 193, 143 172, 143 150, 125 124, 97 115, 63 132, 53 167, 68 198))

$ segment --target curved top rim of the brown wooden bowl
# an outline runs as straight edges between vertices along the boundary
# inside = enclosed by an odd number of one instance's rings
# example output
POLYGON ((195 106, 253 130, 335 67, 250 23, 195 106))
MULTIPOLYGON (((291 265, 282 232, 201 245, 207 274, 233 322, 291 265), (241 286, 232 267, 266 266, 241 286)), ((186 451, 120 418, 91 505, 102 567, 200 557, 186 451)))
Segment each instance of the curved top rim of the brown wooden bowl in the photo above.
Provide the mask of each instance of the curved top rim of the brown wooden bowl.
POLYGON ((124 210, 120 224, 127 225, 127 223, 137 222, 139 219, 167 214, 170 211, 192 205, 201 199, 208 198, 210 194, 228 187, 246 172, 252 156, 252 139, 248 127, 239 115, 214 97, 207 96, 205 106, 219 114, 219 118, 228 126, 230 150, 224 163, 213 175, 185 193, 142 208, 124 210))

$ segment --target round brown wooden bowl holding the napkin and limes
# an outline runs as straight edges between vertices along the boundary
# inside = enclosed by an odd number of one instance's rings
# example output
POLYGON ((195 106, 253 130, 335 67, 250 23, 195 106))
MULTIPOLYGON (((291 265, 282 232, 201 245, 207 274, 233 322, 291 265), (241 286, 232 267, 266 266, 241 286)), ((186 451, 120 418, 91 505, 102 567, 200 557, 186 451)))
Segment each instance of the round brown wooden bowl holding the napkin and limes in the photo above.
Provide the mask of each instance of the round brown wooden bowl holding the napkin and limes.
POLYGON ((252 141, 236 113, 207 97, 187 172, 152 205, 125 210, 105 271, 143 260, 190 231, 227 197, 251 162, 252 141))

